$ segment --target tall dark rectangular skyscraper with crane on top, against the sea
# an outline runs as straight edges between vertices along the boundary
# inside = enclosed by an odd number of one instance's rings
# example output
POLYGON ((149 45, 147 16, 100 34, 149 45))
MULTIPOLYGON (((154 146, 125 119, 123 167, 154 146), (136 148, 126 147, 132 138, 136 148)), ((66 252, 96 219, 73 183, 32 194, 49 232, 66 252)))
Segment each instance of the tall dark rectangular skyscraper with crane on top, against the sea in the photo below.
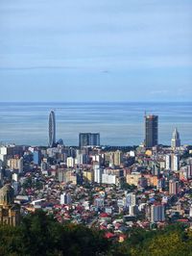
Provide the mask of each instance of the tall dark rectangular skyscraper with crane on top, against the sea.
POLYGON ((152 148, 158 144, 158 116, 145 115, 145 146, 152 148))

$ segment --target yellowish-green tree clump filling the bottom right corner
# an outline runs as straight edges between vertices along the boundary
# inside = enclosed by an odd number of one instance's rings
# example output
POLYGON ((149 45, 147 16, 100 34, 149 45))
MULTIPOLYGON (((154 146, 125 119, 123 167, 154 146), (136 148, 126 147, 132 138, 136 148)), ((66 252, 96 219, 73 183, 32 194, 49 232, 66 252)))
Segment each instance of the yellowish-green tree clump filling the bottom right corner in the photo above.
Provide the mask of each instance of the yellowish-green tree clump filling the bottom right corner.
POLYGON ((163 230, 132 229, 130 238, 115 249, 118 256, 192 255, 192 231, 184 225, 169 225, 163 230))

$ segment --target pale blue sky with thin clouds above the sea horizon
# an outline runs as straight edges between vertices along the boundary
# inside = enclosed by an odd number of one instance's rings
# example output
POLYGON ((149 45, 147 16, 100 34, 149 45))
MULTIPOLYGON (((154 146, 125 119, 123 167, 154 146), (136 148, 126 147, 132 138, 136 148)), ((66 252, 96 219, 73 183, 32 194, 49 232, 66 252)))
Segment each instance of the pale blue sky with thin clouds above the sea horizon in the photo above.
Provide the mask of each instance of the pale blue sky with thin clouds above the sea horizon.
POLYGON ((1 101, 191 101, 191 0, 1 0, 1 101))

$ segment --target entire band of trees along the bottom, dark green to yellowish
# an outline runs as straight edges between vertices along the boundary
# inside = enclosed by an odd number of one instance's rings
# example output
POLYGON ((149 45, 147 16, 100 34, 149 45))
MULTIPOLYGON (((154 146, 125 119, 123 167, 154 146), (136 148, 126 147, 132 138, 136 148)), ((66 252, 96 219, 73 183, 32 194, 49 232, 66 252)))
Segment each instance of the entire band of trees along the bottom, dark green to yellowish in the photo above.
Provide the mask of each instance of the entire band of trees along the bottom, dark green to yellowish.
POLYGON ((192 255, 192 231, 182 225, 164 230, 132 229, 124 243, 108 242, 100 231, 58 223, 43 212, 23 218, 18 227, 0 226, 0 255, 192 255))

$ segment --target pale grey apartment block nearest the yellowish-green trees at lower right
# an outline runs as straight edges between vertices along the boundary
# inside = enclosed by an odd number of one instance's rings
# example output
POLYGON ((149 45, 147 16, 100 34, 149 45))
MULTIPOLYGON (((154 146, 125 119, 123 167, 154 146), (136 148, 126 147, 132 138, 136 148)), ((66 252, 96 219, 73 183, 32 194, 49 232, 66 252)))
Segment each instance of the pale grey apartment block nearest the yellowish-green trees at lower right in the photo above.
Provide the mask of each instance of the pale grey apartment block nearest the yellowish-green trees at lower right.
POLYGON ((153 204, 151 206, 151 222, 165 220, 165 207, 163 204, 153 204))

